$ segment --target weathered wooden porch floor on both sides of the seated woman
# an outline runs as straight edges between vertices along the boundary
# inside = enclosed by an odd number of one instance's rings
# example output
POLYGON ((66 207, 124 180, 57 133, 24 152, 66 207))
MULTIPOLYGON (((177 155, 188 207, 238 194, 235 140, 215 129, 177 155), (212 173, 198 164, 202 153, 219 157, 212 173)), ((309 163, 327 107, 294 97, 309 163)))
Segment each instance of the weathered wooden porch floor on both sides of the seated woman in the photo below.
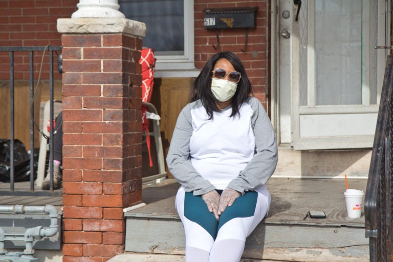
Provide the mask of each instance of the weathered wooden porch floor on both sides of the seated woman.
MULTIPOLYGON (((168 180, 171 181, 171 180, 168 180)), ((172 180, 173 181, 173 180, 172 180)), ((367 180, 351 179, 352 188, 365 192, 367 180)), ((148 200, 149 195, 157 195, 154 203, 125 213, 126 216, 179 218, 174 208, 174 195, 180 186, 177 183, 162 185, 149 189, 144 187, 143 198, 148 200), (167 196, 163 199, 164 195, 167 196), (161 199, 161 200, 160 200, 161 199)), ((350 219, 346 214, 344 199, 345 181, 342 179, 285 179, 271 178, 267 187, 270 191, 272 203, 265 223, 271 224, 299 224, 319 226, 354 226, 364 227, 364 213, 358 219, 350 219), (326 213, 326 219, 311 219, 304 217, 309 210, 320 210, 326 213)), ((151 198, 151 197, 150 197, 151 198)))

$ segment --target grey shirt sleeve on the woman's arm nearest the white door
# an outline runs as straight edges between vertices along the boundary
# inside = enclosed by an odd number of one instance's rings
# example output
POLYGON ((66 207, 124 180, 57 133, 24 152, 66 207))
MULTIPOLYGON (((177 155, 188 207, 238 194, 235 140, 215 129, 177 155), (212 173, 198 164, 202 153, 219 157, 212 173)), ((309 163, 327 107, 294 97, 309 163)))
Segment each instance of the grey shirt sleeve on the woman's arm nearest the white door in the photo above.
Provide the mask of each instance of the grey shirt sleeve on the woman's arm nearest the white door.
POLYGON ((278 160, 276 137, 264 107, 254 97, 246 103, 253 108, 251 125, 255 136, 255 155, 228 185, 242 194, 264 185, 276 169, 278 160))

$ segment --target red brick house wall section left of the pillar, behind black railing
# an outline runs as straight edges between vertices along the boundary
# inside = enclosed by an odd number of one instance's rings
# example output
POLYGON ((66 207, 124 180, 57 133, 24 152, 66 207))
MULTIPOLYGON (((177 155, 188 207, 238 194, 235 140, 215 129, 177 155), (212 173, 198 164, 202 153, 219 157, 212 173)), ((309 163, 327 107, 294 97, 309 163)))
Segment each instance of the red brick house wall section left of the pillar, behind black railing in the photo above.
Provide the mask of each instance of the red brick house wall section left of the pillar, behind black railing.
MULTIPOLYGON (((12 0, 0 1, 0 46, 60 46, 57 18, 70 18, 79 0, 12 0)), ((38 78, 42 52, 34 53, 35 79, 38 78)), ((54 56, 56 61, 57 57, 54 56)), ((48 79, 49 57, 46 56, 41 79, 48 79)), ((55 65, 54 78, 61 79, 55 65)), ((0 52, 0 79, 9 79, 9 55, 0 52)), ((29 57, 15 55, 15 79, 29 79, 29 57)))

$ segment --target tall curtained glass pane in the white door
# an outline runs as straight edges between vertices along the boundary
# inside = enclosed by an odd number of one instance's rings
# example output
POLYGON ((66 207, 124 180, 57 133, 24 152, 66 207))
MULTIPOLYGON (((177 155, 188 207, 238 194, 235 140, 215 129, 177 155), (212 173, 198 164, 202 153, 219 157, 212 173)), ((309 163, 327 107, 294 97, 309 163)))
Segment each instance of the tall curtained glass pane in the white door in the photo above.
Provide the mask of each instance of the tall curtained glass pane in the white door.
POLYGON ((317 104, 362 104, 362 0, 317 0, 315 9, 317 104))

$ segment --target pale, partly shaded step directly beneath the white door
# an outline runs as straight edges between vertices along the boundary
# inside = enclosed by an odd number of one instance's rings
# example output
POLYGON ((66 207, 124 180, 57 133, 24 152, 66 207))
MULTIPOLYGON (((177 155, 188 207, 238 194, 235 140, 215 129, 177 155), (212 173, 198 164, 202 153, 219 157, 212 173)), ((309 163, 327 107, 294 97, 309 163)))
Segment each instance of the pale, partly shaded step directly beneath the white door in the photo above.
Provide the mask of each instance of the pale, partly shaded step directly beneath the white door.
POLYGON ((292 150, 280 145, 273 177, 367 178, 371 154, 371 149, 292 150))

